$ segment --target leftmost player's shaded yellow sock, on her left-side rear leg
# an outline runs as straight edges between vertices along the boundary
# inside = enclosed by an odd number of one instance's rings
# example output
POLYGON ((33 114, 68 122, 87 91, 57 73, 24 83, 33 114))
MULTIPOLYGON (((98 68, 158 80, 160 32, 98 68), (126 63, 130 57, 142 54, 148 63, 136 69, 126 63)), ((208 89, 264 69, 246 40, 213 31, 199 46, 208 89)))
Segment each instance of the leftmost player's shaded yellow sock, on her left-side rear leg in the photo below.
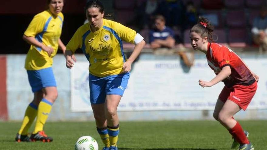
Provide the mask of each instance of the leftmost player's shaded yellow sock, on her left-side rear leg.
POLYGON ((20 135, 28 135, 28 130, 32 125, 37 114, 37 106, 33 103, 30 103, 25 111, 25 115, 22 121, 22 125, 19 129, 20 135))

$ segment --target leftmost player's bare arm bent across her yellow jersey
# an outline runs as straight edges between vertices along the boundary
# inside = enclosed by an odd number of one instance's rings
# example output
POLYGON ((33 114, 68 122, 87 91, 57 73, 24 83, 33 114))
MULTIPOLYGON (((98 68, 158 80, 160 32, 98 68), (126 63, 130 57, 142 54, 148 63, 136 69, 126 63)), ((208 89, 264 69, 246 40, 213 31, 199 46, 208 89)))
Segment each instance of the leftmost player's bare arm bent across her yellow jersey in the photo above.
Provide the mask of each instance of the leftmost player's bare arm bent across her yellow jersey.
POLYGON ((54 49, 52 47, 43 45, 41 42, 37 41, 34 37, 23 35, 22 39, 27 43, 29 43, 30 45, 42 48, 42 50, 46 51, 49 56, 54 52, 54 49))

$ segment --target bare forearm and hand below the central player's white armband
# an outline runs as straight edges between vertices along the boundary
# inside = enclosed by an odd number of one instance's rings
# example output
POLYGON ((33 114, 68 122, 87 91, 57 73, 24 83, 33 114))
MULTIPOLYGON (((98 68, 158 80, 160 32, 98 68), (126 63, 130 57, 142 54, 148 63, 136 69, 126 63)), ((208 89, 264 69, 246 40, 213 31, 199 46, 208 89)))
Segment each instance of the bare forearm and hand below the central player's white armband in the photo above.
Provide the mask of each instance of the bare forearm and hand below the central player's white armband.
POLYGON ((141 42, 135 45, 133 53, 131 54, 129 59, 123 63, 123 69, 125 72, 130 72, 132 63, 138 57, 145 44, 146 42, 142 40, 141 42))

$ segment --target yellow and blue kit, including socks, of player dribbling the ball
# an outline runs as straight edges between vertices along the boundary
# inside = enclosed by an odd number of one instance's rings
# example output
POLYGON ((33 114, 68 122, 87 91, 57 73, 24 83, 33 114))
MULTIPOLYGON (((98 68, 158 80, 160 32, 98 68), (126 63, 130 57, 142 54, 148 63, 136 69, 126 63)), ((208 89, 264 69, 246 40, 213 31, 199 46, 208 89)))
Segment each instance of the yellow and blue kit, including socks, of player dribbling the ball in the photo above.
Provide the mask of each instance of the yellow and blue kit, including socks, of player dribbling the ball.
MULTIPOLYGON (((90 24, 82 25, 73 35, 66 50, 81 48, 89 61, 91 104, 103 104, 106 95, 123 95, 130 73, 124 73, 122 41, 135 44, 137 33, 118 22, 103 19, 103 25, 91 32, 90 24)), ((97 128, 105 147, 117 146, 119 125, 97 128)))

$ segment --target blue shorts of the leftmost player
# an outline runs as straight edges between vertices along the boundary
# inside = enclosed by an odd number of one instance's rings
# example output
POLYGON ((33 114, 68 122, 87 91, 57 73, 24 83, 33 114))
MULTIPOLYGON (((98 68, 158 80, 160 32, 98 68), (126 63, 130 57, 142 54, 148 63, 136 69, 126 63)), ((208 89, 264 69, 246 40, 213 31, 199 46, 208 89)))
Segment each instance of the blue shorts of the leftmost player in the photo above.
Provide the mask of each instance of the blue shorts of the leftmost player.
POLYGON ((41 70, 27 70, 32 92, 38 92, 45 87, 56 87, 52 67, 41 70))

